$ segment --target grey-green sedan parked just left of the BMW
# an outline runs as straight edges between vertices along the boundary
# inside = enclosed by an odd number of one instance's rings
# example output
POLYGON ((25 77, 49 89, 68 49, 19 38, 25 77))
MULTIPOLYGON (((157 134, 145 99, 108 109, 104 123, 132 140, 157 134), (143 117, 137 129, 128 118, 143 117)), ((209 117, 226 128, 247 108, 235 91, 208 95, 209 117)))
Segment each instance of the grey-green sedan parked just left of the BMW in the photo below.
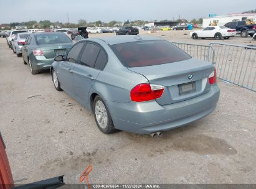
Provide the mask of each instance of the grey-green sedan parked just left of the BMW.
POLYGON ((29 64, 32 74, 39 70, 50 69, 57 55, 65 55, 72 40, 61 32, 33 33, 27 36, 25 45, 21 48, 24 64, 29 64))

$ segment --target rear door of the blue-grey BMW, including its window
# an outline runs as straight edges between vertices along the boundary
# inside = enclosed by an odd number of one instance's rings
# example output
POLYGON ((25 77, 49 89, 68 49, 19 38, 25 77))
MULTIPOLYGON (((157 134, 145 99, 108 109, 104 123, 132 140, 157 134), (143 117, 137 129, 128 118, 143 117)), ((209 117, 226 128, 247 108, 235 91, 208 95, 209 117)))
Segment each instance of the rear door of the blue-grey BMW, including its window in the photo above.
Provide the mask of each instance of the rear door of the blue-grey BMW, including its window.
MULTIPOLYGON (((75 95, 81 104, 89 107, 88 94, 102 68, 98 68, 98 60, 106 53, 100 45, 87 42, 80 55, 79 64, 73 68, 73 86, 75 95), (95 67, 96 66, 96 67, 95 67)), ((101 58, 102 59, 102 58, 101 58)), ((107 59, 107 58, 105 58, 107 59)))

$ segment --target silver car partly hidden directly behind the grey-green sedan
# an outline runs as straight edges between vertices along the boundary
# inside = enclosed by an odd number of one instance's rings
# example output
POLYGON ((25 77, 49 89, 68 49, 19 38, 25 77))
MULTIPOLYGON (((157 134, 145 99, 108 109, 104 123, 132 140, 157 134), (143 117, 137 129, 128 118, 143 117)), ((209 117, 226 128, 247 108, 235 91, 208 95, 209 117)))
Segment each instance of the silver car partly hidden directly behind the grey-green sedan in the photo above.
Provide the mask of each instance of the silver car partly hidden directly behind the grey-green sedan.
POLYGON ((12 51, 16 53, 17 57, 21 57, 21 48, 25 45, 25 40, 29 34, 31 33, 19 33, 14 40, 11 41, 12 51))

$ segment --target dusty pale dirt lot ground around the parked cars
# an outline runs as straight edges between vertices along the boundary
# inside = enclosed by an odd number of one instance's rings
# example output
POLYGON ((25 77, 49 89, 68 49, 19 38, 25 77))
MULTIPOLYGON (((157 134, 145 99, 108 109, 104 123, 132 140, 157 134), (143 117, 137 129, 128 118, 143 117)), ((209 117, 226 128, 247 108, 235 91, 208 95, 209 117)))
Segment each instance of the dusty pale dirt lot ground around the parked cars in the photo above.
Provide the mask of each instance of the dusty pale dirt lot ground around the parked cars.
MULTIPOLYGON (((194 41, 184 34, 189 32, 147 35, 197 44, 215 41, 194 41)), ((225 42, 250 44, 252 38, 225 42)), ((19 183, 58 175, 65 175, 66 183, 79 183, 89 164, 91 183, 255 183, 252 91, 219 80, 216 111, 204 119, 161 138, 121 131, 105 135, 87 110, 55 90, 49 71, 31 75, 6 39, 0 39, 0 73, 0 130, 14 180, 25 179, 19 183)))

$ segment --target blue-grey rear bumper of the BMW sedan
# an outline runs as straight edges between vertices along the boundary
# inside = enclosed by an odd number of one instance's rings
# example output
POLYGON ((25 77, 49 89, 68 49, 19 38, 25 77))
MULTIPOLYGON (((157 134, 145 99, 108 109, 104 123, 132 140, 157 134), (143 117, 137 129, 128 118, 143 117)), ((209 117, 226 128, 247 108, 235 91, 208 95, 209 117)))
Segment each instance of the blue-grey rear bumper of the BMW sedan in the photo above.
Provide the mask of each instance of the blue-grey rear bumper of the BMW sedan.
POLYGON ((219 88, 212 89, 197 98, 160 106, 156 101, 146 103, 115 103, 107 101, 116 129, 139 134, 167 131, 201 119, 216 108, 219 88))

